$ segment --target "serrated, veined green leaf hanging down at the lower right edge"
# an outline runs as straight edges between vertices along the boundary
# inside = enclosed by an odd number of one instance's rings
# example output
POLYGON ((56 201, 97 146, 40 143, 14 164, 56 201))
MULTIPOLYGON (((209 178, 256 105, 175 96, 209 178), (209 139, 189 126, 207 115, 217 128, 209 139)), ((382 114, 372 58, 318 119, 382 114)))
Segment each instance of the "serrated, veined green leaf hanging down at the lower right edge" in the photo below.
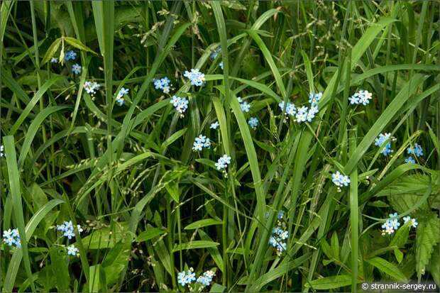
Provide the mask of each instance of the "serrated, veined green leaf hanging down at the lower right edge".
POLYGON ((419 219, 416 233, 416 271, 417 277, 424 275, 434 246, 440 240, 440 223, 437 214, 431 213, 427 217, 419 219))

